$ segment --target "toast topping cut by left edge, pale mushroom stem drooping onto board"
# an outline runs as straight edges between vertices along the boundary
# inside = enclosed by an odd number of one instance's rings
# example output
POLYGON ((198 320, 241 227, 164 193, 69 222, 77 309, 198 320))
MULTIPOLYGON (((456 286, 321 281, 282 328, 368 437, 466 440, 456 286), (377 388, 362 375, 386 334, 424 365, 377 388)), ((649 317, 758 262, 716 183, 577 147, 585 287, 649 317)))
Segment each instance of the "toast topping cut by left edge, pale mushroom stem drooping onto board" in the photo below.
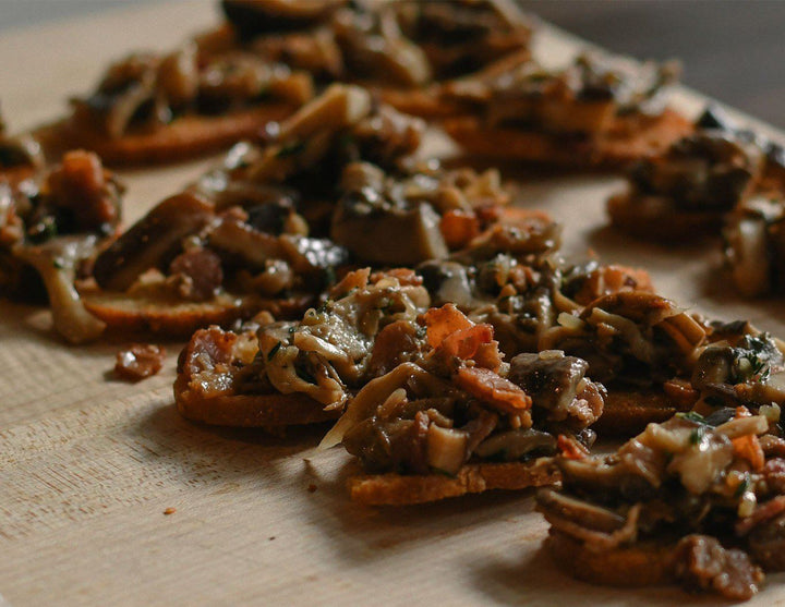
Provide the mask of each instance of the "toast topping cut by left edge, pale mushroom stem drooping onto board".
POLYGON ((35 298, 43 286, 55 329, 81 343, 101 335, 75 287, 89 274, 96 252, 114 235, 124 187, 89 151, 67 153, 48 170, 27 165, 0 173, 0 291, 35 298), (21 171, 34 178, 17 181, 21 171))

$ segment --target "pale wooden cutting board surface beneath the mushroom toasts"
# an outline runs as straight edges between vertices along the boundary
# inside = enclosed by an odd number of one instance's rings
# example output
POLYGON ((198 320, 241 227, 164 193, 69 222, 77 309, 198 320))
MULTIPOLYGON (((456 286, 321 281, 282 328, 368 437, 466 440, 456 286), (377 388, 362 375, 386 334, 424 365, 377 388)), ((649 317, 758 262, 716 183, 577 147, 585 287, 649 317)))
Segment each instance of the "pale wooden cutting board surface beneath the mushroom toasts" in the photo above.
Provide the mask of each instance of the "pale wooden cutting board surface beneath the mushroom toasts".
MULTIPOLYGON (((9 126, 60 116, 109 60, 169 48, 215 22, 213 2, 203 1, 4 34, 0 93, 9 126)), ((547 29, 538 47, 563 62, 579 44, 547 29)), ((702 101, 680 90, 677 104, 696 113, 702 101)), ((124 173, 128 220, 206 166, 124 173)), ((534 171, 519 179, 520 204, 564 221, 568 254, 591 250, 644 265, 685 306, 785 336, 781 302, 733 294, 717 243, 668 248, 608 230, 603 204, 618 178, 534 171)), ((546 525, 530 493, 355 506, 345 489, 348 457, 315 449, 325 428, 280 439, 191 424, 171 396, 181 344, 169 344, 160 375, 135 386, 107 376, 120 344, 65 345, 46 311, 0 302, 0 594, 11 605, 715 602, 568 579, 541 549, 546 525)), ((751 604, 785 603, 783 582, 771 575, 751 604)))

